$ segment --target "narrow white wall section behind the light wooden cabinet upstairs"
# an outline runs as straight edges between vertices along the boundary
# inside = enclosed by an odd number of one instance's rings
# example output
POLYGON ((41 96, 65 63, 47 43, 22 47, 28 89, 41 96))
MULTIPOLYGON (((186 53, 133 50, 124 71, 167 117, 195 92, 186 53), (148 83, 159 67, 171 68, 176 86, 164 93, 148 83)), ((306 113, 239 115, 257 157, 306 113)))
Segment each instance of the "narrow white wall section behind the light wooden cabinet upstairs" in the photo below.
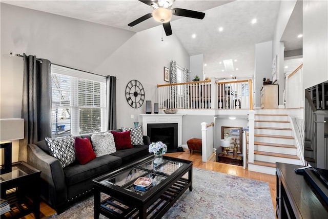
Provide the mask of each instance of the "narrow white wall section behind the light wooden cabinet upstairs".
POLYGON ((255 106, 261 107, 263 77, 272 81, 272 41, 255 44, 255 106))

